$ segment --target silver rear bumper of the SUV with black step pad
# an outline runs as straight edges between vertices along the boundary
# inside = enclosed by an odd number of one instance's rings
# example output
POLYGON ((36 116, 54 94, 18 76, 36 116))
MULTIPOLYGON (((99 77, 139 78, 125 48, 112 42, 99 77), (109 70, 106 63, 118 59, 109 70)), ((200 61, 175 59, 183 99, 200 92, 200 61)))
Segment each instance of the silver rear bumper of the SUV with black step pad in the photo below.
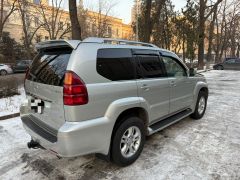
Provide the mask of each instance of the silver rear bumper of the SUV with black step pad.
POLYGON ((20 108, 23 127, 32 139, 61 157, 75 157, 90 153, 108 154, 113 123, 106 117, 65 122, 56 133, 34 118, 28 106, 20 108))

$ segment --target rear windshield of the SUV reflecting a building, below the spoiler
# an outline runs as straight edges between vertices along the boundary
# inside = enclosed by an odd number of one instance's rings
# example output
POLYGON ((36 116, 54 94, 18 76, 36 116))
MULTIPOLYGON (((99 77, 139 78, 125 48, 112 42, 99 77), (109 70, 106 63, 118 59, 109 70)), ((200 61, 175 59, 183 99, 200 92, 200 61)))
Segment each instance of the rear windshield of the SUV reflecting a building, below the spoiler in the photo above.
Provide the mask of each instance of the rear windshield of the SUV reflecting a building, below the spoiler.
POLYGON ((71 53, 71 48, 41 51, 33 60, 28 79, 38 83, 62 86, 71 53))

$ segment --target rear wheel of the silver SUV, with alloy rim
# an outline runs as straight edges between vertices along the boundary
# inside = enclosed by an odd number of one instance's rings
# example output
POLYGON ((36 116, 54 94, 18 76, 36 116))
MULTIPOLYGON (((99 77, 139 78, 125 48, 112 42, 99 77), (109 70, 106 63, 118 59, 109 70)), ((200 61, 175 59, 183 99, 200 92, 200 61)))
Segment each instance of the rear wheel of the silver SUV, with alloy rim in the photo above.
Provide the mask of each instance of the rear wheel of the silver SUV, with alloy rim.
POLYGON ((144 144, 145 126, 143 121, 134 116, 124 118, 112 138, 111 159, 118 166, 128 166, 138 159, 144 144))

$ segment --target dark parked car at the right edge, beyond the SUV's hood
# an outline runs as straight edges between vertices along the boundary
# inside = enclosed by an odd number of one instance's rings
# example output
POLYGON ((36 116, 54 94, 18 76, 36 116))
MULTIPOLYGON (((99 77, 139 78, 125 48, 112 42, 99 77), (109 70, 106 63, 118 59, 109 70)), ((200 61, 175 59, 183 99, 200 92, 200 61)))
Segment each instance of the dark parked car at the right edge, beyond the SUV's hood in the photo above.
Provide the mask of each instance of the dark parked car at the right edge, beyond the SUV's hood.
POLYGON ((227 58, 222 63, 215 64, 213 69, 216 70, 240 70, 239 58, 227 58))

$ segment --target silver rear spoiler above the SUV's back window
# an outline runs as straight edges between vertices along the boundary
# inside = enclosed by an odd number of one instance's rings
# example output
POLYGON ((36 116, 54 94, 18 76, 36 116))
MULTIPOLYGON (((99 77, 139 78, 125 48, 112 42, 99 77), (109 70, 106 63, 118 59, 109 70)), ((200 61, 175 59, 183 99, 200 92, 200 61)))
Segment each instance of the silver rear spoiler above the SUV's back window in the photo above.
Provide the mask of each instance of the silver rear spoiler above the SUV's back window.
POLYGON ((49 49, 54 47, 71 47, 72 49, 76 49, 78 45, 81 43, 79 40, 51 40, 44 41, 36 44, 37 51, 42 49, 49 49))

